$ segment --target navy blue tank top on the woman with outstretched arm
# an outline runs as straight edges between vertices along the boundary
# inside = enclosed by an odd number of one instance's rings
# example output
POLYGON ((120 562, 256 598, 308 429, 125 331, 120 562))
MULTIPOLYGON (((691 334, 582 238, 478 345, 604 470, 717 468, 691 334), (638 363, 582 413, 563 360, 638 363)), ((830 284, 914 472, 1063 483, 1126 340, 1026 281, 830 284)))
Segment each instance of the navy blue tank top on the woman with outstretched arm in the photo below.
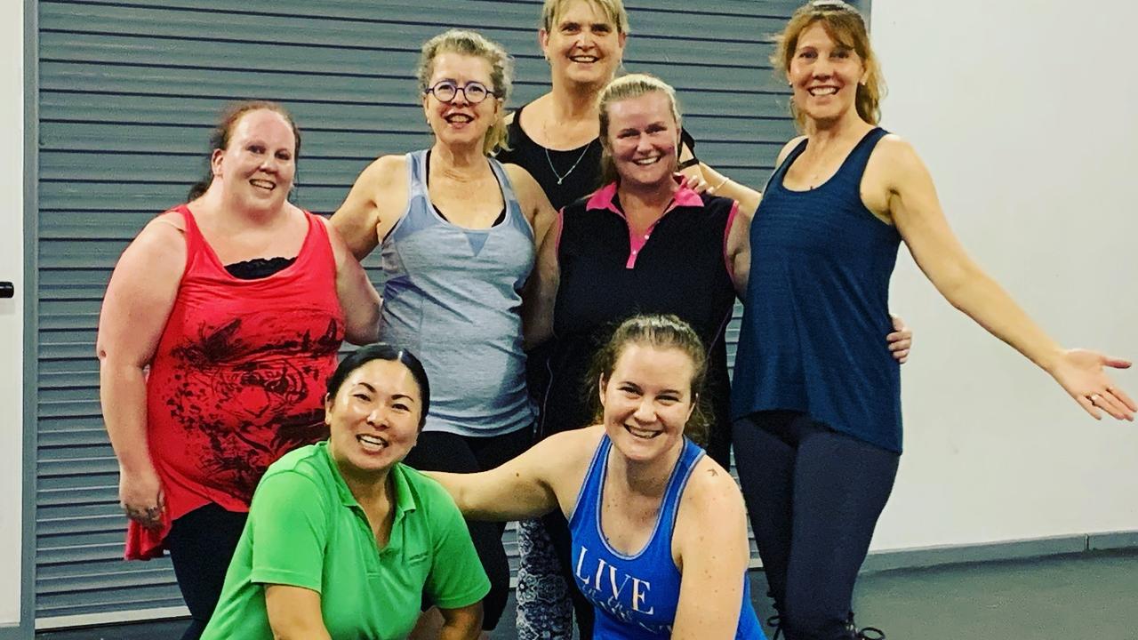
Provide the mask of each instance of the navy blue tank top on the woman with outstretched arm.
POLYGON ((861 175, 888 132, 874 129, 838 173, 808 191, 783 186, 803 140, 770 177, 751 224, 751 274, 732 416, 805 411, 900 453, 901 380, 885 345, 889 279, 901 237, 861 204, 861 175))

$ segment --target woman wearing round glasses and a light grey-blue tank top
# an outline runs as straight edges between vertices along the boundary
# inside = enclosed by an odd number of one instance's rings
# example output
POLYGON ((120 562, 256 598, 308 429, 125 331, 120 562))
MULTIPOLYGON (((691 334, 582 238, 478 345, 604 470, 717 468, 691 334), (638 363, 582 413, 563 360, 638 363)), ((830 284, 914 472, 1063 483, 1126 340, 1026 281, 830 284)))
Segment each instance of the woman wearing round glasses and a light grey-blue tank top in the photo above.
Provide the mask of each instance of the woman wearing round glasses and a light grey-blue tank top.
MULTIPOLYGON (((357 259, 380 247, 380 339, 420 354, 435 383, 406 460, 420 469, 490 469, 531 440, 521 307, 554 211, 529 173, 489 157, 505 141, 511 73, 502 47, 470 31, 423 44, 419 88, 435 143, 376 159, 332 216, 357 259)), ((489 630, 509 591, 504 524, 468 525, 490 577, 489 630)))

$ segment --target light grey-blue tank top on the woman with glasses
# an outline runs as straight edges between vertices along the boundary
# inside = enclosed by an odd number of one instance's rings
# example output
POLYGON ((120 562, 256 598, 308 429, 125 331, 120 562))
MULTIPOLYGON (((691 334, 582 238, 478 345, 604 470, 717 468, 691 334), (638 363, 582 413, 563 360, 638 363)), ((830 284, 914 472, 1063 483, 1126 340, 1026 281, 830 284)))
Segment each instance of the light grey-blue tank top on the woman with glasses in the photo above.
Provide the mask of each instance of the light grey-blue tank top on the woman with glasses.
POLYGON ((407 154, 407 210, 384 238, 379 339, 411 350, 430 378, 426 430, 493 436, 534 424, 521 348, 521 288, 534 231, 502 165, 505 219, 452 224, 427 195, 427 151, 407 154))

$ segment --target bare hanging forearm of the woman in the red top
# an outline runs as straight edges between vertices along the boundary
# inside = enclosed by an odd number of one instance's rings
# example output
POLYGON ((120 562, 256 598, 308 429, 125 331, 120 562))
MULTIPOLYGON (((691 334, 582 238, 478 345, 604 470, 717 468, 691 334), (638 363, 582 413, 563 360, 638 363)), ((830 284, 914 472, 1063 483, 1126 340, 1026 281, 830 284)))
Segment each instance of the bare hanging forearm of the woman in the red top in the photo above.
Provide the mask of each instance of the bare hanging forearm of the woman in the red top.
POLYGON ((127 473, 154 470, 147 440, 146 376, 137 364, 99 362, 99 401, 118 466, 127 473))

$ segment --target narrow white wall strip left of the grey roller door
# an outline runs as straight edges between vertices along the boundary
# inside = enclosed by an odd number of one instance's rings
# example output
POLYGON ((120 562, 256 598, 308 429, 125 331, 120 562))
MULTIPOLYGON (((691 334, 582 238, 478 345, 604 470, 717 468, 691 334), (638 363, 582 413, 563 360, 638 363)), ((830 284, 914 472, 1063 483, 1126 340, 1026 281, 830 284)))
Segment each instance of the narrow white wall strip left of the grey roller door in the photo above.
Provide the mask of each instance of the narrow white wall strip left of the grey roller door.
POLYGON ((19 623, 23 527, 24 2, 0 2, 0 626, 19 623))

